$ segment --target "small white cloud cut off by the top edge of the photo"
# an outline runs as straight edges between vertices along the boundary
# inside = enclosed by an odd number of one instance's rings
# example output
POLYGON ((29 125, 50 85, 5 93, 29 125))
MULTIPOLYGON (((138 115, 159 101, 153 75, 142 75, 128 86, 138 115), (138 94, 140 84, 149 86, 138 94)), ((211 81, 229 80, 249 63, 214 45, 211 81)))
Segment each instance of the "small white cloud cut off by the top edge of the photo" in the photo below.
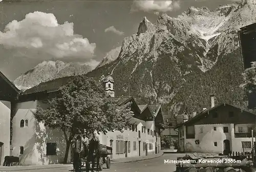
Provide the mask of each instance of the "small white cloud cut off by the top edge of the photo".
POLYGON ((168 12, 180 8, 179 1, 134 1, 131 12, 168 12))

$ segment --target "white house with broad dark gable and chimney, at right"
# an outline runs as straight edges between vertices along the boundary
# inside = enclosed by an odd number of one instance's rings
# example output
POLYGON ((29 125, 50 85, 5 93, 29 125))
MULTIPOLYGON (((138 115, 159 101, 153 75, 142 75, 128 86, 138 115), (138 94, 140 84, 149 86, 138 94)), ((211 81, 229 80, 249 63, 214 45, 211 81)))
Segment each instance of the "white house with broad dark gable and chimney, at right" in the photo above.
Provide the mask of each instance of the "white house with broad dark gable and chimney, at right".
MULTIPOLYGON (((214 100, 214 96, 211 97, 214 100)), ((256 114, 226 103, 204 109, 185 120, 179 131, 180 152, 251 152, 256 114)), ((255 142, 255 138, 253 138, 255 142)))

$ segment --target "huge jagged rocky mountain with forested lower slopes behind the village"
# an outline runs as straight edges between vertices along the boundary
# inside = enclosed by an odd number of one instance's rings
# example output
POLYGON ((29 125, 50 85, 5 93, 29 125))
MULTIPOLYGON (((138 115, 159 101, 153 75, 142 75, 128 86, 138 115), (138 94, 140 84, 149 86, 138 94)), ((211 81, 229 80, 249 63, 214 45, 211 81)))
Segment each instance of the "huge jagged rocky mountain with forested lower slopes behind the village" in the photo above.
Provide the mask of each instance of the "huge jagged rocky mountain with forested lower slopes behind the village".
POLYGON ((100 80, 111 73, 116 95, 162 104, 168 116, 209 108, 212 94, 217 104, 246 108, 237 31, 254 22, 253 1, 215 10, 189 7, 177 17, 164 13, 155 23, 143 17, 138 32, 87 76, 100 80))

